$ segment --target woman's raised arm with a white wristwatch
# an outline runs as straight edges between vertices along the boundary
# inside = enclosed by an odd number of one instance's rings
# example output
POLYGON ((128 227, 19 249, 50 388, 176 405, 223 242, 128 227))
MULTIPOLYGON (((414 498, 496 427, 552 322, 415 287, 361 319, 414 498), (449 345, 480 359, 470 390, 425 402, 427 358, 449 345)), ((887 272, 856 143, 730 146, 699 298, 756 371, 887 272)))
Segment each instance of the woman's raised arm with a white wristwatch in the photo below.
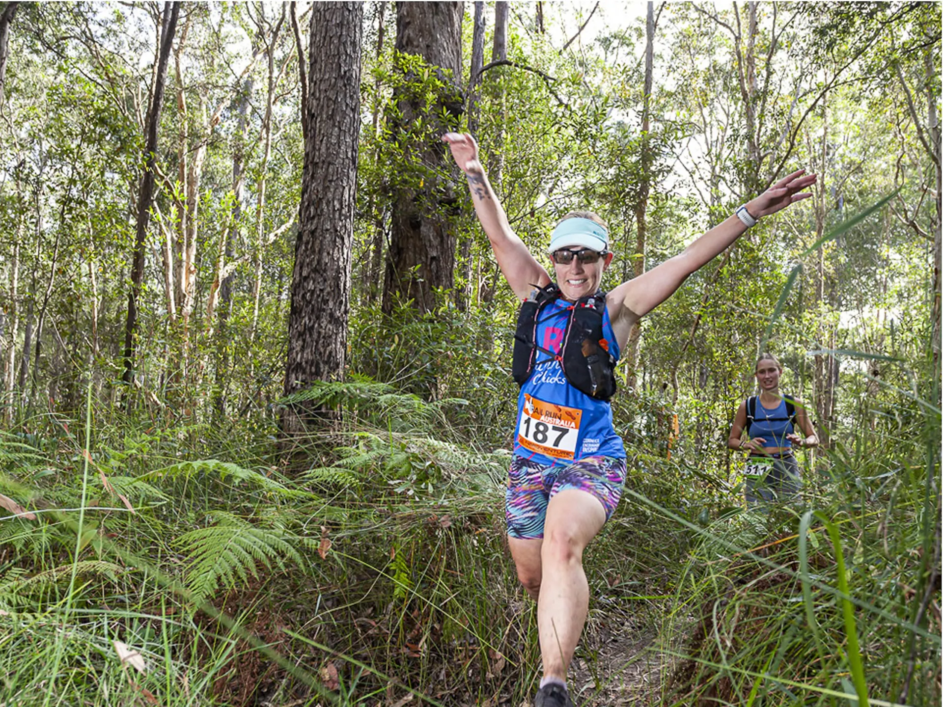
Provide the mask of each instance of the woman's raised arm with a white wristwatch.
MULTIPOLYGON (((789 174, 745 205, 747 219, 769 216, 790 204, 807 199, 812 196, 811 193, 799 192, 815 181, 816 175, 805 174, 804 170, 789 174)), ((698 271, 726 250, 746 230, 746 223, 735 212, 687 246, 682 253, 613 289, 606 304, 620 346, 628 339, 632 325, 640 317, 667 300, 689 274, 698 271)))

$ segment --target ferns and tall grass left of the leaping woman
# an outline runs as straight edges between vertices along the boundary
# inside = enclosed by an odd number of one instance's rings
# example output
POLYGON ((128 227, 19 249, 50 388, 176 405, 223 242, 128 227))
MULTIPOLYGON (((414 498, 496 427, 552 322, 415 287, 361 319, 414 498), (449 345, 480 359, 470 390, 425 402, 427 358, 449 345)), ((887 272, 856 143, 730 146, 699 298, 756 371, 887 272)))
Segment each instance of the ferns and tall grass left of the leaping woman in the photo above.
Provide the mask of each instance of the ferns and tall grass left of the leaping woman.
POLYGON ((5 434, 0 492, 38 515, 0 521, 0 703, 520 691, 537 656, 496 516, 506 458, 429 436, 446 403, 328 392, 352 423, 300 440, 290 473, 271 441, 93 428, 100 411, 86 444, 5 434))

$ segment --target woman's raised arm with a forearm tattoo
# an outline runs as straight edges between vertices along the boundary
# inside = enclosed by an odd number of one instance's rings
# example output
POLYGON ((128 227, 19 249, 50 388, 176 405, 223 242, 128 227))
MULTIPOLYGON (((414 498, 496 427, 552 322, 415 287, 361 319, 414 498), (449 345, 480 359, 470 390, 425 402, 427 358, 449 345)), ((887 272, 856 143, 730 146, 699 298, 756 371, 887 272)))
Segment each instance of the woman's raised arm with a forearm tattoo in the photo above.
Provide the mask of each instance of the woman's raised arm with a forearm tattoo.
POLYGON ((475 214, 488 236, 498 267, 514 294, 522 300, 535 286, 542 288, 550 283, 546 269, 531 255, 507 222, 505 209, 494 195, 485 168, 478 160, 478 144, 474 138, 468 133, 446 133, 442 141, 448 143, 455 164, 468 179, 475 214))

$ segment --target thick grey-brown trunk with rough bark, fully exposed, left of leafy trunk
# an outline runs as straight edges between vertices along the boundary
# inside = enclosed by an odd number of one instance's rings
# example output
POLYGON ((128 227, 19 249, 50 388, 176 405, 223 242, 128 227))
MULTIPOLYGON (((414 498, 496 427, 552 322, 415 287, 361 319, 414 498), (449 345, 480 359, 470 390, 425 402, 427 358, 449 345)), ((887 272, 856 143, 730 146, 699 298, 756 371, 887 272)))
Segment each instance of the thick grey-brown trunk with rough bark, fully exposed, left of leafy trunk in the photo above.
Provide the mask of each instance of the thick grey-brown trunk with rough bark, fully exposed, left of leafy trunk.
MULTIPOLYGON (((309 134, 291 275, 285 394, 343 377, 350 310, 356 162, 360 131, 363 6, 316 3, 311 14, 309 134)), ((286 408, 282 429, 304 428, 286 408)))

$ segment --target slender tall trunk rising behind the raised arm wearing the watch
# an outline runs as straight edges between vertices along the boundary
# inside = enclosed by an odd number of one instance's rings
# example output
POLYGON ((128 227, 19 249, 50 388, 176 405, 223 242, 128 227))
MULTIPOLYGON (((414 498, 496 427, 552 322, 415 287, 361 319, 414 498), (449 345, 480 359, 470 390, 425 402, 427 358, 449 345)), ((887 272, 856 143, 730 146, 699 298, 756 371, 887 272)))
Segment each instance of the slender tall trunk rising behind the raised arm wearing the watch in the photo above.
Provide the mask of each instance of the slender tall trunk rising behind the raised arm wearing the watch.
MULTIPOLYGON (((635 207, 636 217, 636 253, 634 260, 634 276, 638 277, 645 272, 645 244, 648 239, 648 197, 652 189, 652 67, 654 58, 654 3, 648 3, 645 18, 645 77, 642 90, 642 144, 641 144, 641 175, 638 182, 638 195, 635 207)), ((629 332, 626 351, 627 376, 626 384, 630 389, 637 385, 638 347, 641 344, 641 321, 636 321, 629 332)))

